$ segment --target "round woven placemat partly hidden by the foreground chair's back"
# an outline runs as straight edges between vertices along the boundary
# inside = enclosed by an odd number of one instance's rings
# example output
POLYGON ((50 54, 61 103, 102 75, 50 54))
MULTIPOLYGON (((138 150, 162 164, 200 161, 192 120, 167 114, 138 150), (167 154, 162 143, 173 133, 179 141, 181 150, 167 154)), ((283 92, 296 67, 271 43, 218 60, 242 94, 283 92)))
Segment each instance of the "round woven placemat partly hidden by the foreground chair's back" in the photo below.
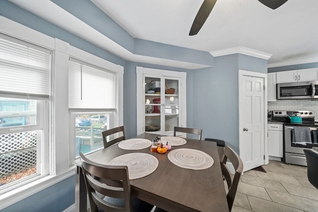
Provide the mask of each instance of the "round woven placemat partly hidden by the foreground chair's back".
POLYGON ((129 179, 134 180, 153 173, 158 167, 158 159, 147 153, 123 154, 112 159, 108 165, 127 166, 129 179))

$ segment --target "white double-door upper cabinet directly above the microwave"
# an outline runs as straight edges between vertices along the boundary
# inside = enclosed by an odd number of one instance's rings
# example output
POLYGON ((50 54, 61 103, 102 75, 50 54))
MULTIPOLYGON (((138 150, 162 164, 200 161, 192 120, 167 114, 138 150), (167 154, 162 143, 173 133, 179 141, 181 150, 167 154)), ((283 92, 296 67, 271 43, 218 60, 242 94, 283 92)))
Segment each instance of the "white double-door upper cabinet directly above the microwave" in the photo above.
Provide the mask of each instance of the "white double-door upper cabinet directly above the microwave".
POLYGON ((303 82, 318 80, 318 68, 276 72, 276 82, 303 82))

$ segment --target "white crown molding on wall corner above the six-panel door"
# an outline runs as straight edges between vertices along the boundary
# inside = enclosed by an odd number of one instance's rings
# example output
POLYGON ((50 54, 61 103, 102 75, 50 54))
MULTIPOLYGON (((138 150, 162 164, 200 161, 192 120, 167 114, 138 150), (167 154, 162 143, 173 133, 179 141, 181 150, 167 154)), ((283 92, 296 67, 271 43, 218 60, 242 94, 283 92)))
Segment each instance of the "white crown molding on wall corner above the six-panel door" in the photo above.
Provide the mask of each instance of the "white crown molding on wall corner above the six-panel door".
POLYGON ((232 54, 243 54, 243 55, 248 55, 248 56, 261 58, 261 59, 265 59, 265 60, 268 60, 270 57, 272 57, 271 54, 256 51, 253 49, 248 49, 248 48, 242 47, 242 46, 230 48, 230 49, 219 50, 219 51, 214 51, 214 52, 210 52, 210 54, 213 57, 232 55, 232 54))

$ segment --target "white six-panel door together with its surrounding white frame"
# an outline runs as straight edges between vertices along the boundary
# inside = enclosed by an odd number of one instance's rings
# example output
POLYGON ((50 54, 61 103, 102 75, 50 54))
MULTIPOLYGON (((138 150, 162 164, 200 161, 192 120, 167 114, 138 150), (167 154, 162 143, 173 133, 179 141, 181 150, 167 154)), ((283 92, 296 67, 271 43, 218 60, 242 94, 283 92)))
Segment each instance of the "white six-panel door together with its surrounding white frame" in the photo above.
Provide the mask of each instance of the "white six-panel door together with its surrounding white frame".
POLYGON ((239 155, 244 171, 268 163, 265 86, 266 73, 239 70, 239 155))

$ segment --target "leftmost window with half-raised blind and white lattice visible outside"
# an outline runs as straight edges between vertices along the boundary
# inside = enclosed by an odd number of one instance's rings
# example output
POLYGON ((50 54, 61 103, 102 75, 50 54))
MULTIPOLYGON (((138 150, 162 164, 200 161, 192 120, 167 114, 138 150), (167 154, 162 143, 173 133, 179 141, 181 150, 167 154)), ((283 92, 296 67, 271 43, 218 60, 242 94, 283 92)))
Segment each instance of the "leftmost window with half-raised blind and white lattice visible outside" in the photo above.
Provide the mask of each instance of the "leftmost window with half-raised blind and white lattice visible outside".
POLYGON ((52 52, 0 34, 0 190, 49 174, 52 52))

